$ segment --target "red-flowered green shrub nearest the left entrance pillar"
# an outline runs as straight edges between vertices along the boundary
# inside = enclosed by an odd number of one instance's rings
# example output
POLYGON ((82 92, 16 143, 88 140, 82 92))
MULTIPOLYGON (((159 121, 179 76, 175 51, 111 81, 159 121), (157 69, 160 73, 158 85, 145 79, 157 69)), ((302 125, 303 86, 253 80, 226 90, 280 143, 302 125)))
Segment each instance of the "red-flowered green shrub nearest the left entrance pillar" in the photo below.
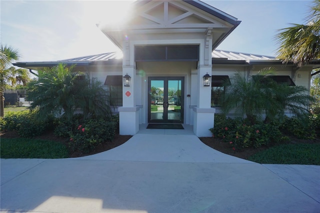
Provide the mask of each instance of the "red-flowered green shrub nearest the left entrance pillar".
POLYGON ((111 141, 115 135, 115 128, 113 121, 89 119, 84 124, 78 125, 72 132, 69 147, 73 151, 88 153, 101 142, 111 141))

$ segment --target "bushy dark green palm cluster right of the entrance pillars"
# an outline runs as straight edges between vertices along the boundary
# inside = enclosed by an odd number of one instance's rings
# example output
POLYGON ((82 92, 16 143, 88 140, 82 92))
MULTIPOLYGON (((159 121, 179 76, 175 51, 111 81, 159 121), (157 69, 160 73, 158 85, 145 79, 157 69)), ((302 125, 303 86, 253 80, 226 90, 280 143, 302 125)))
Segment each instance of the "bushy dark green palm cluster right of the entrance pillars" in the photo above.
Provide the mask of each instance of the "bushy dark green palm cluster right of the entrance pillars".
POLYGON ((224 113, 231 110, 245 115, 253 124, 255 118, 264 114, 264 122, 282 119, 285 111, 295 115, 308 113, 309 104, 314 100, 307 95, 303 86, 278 84, 269 75, 275 68, 266 67, 250 79, 241 72, 230 78, 231 85, 222 95, 221 108, 224 113))

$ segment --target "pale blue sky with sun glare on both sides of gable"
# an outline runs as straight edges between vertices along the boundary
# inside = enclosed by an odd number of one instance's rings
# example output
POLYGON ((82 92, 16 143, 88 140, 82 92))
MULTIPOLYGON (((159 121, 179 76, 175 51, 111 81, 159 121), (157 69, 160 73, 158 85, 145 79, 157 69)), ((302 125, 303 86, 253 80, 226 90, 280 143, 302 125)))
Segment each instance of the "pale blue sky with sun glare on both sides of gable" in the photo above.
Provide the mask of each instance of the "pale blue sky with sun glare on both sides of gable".
MULTIPOLYGON (((273 36, 304 23, 308 0, 203 0, 241 20, 217 49, 275 55, 273 36)), ((50 61, 118 50, 96 27, 119 18, 128 1, 0 0, 0 41, 19 49, 19 61, 50 61)))

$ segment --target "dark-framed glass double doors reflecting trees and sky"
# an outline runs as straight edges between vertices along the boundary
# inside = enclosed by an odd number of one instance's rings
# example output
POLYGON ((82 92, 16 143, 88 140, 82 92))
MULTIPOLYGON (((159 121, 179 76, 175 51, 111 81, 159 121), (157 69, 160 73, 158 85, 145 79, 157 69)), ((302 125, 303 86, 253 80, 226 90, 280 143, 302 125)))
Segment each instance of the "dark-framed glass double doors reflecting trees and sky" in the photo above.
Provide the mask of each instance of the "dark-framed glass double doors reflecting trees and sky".
POLYGON ((183 123, 183 79, 148 78, 148 122, 183 123))

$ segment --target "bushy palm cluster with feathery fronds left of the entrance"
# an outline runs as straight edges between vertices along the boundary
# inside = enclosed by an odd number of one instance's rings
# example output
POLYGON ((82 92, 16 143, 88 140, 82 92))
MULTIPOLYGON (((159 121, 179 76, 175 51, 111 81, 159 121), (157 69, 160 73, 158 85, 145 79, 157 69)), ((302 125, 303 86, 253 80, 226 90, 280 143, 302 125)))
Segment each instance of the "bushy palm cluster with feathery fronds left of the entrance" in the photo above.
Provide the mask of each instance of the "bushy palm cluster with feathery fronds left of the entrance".
POLYGON ((63 64, 38 70, 38 80, 28 84, 28 98, 33 101, 30 109, 38 109, 41 119, 63 114, 71 120, 78 110, 84 118, 109 118, 108 93, 102 84, 72 70, 73 66, 63 64))

